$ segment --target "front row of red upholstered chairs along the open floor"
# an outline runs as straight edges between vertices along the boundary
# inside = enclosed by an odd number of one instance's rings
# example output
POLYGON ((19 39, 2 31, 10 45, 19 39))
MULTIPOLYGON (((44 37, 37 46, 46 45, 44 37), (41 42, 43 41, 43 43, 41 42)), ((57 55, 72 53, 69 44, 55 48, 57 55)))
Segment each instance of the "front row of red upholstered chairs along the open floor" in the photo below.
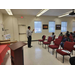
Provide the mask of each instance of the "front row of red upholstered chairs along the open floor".
POLYGON ((73 50, 75 50, 75 48, 73 48, 75 43, 68 42, 68 41, 65 42, 63 49, 59 49, 60 43, 63 38, 62 36, 59 36, 57 39, 55 39, 54 45, 50 45, 50 43, 52 41, 51 37, 48 37, 47 42, 44 42, 45 38, 46 38, 46 36, 44 36, 43 40, 39 40, 39 41, 43 42, 42 45, 45 44, 45 48, 46 48, 46 45, 48 45, 48 52, 49 52, 49 48, 51 48, 53 50, 52 54, 54 54, 54 50, 56 49, 56 58, 57 58, 57 53, 61 54, 63 56, 63 63, 64 63, 64 56, 68 55, 71 57, 71 53, 73 52, 73 50), (63 52, 63 50, 64 50, 64 52, 63 52), (66 51, 69 51, 69 53, 66 53, 66 51))

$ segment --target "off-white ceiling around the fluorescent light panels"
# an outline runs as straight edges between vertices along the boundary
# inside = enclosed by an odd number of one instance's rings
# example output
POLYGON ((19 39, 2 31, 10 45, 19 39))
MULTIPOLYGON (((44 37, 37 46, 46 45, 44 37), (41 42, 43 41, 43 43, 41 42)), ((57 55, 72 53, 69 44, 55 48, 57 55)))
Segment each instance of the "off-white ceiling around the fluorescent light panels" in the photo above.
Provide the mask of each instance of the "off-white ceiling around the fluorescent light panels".
MULTIPOLYGON (((72 9, 50 9, 43 15, 44 16, 60 16, 71 10, 72 9)), ((11 9, 11 11, 14 15, 34 15, 36 16, 41 11, 41 9, 11 9)), ((2 12, 3 14, 7 14, 7 12, 4 9, 0 9, 0 12, 2 12)))

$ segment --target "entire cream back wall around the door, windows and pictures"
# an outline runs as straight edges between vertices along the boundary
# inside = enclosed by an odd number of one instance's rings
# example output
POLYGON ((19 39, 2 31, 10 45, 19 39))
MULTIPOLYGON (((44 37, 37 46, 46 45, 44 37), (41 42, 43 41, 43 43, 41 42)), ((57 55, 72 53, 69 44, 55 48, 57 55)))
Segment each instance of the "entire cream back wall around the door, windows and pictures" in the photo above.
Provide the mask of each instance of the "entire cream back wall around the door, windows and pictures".
MULTIPOLYGON (((11 40, 19 40, 19 34, 18 34, 18 24, 25 24, 26 28, 28 26, 31 26, 31 30, 34 29, 34 21, 42 21, 42 24, 48 24, 49 21, 55 21, 56 24, 61 24, 62 21, 67 21, 68 26, 67 30, 72 31, 72 22, 73 18, 64 17, 64 18, 58 18, 58 17, 49 17, 49 16, 41 16, 39 18, 36 18, 35 16, 24 16, 23 19, 21 19, 19 16, 8 16, 4 15, 4 26, 5 28, 9 29, 9 33, 11 34, 12 38, 11 40)), ((55 35, 58 36, 61 30, 56 30, 55 35)), ((33 33, 32 40, 41 39, 42 35, 46 35, 47 37, 51 35, 48 30, 42 30, 42 33, 33 33)))

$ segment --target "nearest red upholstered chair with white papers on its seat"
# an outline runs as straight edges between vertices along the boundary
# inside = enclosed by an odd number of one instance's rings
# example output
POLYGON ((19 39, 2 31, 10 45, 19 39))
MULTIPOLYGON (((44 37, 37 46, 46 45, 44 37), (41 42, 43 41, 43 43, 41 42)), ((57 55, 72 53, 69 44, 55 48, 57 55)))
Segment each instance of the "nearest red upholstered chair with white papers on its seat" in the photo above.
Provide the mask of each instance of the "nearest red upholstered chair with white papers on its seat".
POLYGON ((64 56, 66 56, 66 55, 70 56, 71 52, 73 51, 73 46, 74 46, 73 42, 66 41, 65 44, 64 44, 64 49, 57 49, 56 50, 56 58, 57 58, 57 53, 61 54, 63 56, 63 63, 64 63, 64 56), (69 51, 70 53, 66 53, 62 50, 69 51))

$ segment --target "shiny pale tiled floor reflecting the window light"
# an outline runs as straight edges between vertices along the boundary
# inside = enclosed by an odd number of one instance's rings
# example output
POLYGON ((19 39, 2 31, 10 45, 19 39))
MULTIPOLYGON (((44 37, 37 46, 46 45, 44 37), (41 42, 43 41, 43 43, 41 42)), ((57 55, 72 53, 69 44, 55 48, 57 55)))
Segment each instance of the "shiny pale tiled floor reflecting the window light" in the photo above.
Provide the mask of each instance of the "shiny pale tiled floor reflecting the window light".
MULTIPOLYGON (((70 65, 69 56, 65 56, 64 63, 62 63, 63 57, 58 54, 56 58, 56 52, 52 55, 52 50, 48 52, 48 48, 43 48, 42 45, 38 45, 38 42, 32 42, 32 48, 24 46, 24 65, 70 65)), ((11 58, 6 54, 2 65, 11 65, 11 58)), ((72 56, 75 55, 75 52, 72 56)))

